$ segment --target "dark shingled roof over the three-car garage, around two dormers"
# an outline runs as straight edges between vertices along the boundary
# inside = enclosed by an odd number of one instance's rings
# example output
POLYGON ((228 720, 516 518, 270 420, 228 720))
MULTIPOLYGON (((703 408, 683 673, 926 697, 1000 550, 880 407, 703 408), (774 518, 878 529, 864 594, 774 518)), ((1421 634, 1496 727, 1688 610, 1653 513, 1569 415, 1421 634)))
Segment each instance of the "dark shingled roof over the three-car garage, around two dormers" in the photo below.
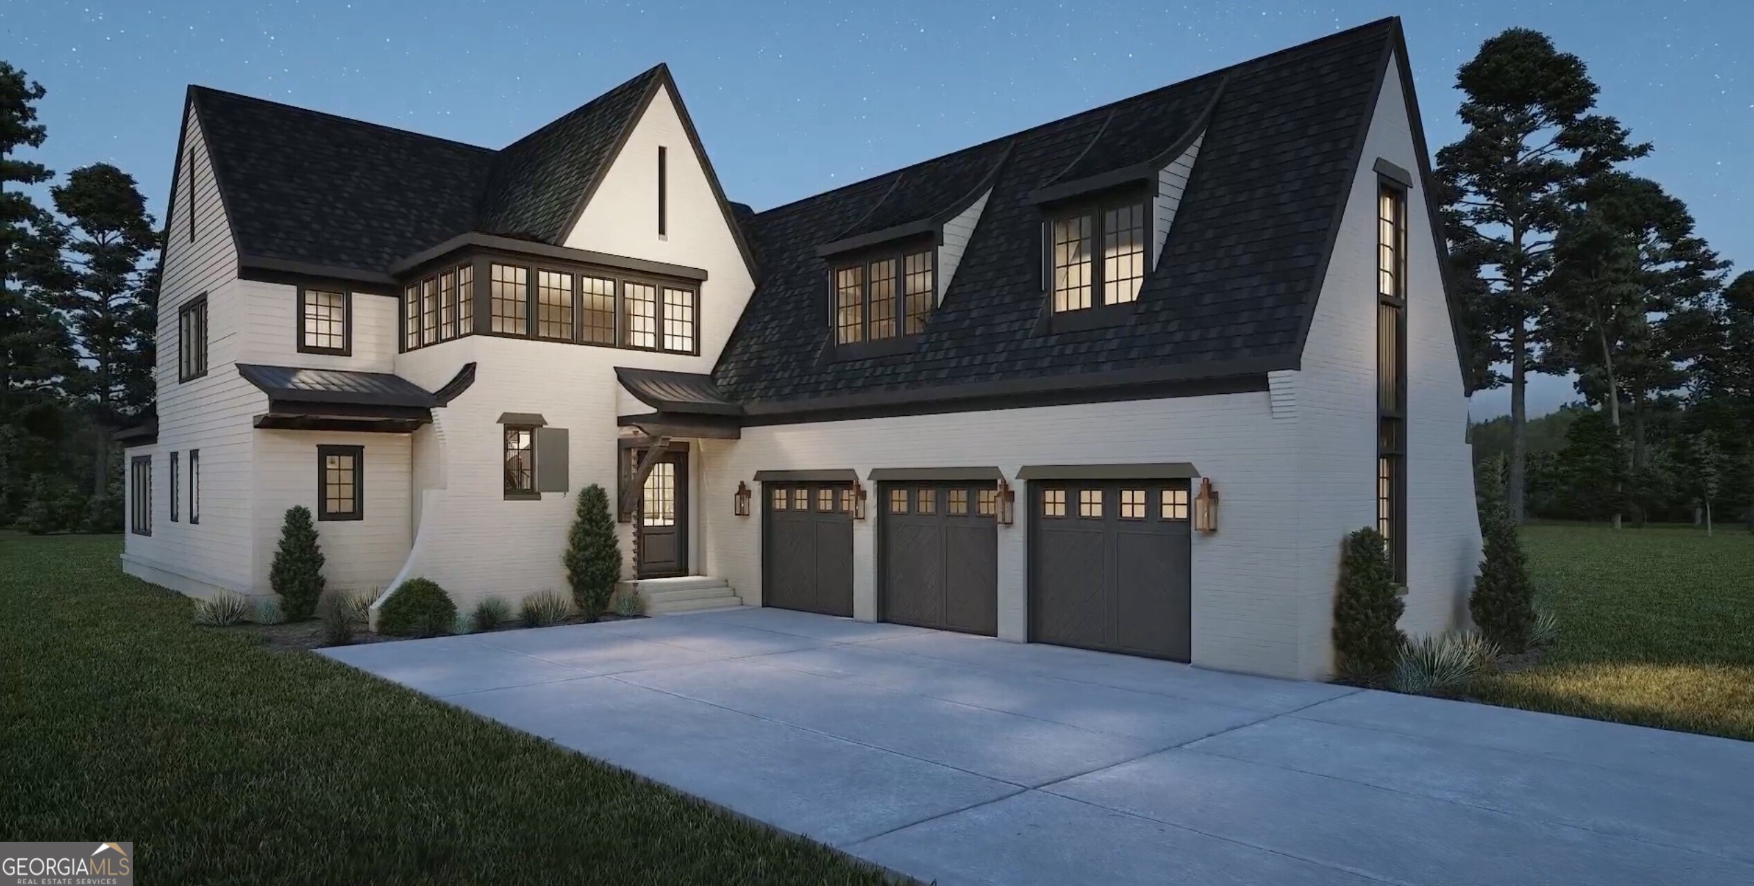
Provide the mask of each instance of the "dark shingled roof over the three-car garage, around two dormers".
POLYGON ((714 369, 717 390, 766 413, 1030 380, 1089 387, 1296 368, 1400 42, 1396 19, 1377 21, 756 214, 744 231, 763 278, 714 369), (1049 333, 1042 212, 1031 191, 1161 156, 1209 110, 1193 179, 1137 313, 1121 326, 1049 333), (893 187, 954 191, 951 180, 966 184, 1000 145, 1005 166, 917 347, 826 359, 828 264, 817 247, 872 229, 865 219, 886 205, 914 203, 893 187))

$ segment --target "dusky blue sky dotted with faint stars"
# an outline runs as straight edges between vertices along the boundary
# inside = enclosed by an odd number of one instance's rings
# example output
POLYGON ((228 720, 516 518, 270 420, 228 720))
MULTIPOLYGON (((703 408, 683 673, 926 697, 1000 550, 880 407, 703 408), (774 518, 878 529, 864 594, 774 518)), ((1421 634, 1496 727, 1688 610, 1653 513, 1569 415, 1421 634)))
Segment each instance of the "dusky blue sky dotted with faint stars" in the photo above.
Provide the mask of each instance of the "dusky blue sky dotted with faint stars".
MULTIPOLYGON (((114 163, 160 219, 191 82, 502 147, 668 61, 726 194, 759 210, 1393 14, 1433 151, 1459 135, 1456 67, 1537 28, 1656 144, 1635 172, 1754 268, 1742 0, 0 0, 0 58, 49 89, 35 159, 114 163)), ((1537 378, 1529 411, 1573 397, 1537 378)), ((1472 411, 1507 404, 1487 390, 1472 411)))

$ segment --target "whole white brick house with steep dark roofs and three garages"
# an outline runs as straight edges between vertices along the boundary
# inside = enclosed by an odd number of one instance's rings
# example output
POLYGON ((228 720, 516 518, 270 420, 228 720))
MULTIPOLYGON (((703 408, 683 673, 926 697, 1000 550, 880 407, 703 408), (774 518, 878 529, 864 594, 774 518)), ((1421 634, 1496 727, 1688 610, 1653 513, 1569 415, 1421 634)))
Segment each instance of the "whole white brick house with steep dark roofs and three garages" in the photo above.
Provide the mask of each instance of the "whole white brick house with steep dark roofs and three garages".
POLYGON ((1323 678, 1347 532, 1410 632, 1479 560, 1428 196, 1394 19, 759 214, 663 67, 500 151, 191 88, 123 566, 272 594, 303 504, 516 602, 602 483, 661 608, 1323 678))

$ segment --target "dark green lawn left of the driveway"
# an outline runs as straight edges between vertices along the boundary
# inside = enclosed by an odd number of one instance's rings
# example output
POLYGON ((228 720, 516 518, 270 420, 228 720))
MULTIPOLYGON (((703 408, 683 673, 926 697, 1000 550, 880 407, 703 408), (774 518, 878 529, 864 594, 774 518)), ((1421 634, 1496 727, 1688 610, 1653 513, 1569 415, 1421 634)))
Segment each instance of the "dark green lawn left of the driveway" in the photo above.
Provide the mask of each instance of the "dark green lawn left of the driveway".
MULTIPOLYGON (((303 651, 189 623, 114 536, 0 534, 0 833, 153 882, 886 882, 303 651)), ((735 765, 735 760, 726 760, 735 765)))

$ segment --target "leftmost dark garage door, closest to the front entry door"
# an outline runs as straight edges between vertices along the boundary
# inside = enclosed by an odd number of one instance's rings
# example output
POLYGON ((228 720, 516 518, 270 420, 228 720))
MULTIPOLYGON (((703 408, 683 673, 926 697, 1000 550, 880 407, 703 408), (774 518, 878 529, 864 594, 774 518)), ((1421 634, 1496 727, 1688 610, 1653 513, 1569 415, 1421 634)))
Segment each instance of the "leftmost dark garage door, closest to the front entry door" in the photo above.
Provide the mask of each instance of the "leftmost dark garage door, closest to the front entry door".
POLYGON ((852 615, 852 483, 763 483, 761 602, 852 615))

